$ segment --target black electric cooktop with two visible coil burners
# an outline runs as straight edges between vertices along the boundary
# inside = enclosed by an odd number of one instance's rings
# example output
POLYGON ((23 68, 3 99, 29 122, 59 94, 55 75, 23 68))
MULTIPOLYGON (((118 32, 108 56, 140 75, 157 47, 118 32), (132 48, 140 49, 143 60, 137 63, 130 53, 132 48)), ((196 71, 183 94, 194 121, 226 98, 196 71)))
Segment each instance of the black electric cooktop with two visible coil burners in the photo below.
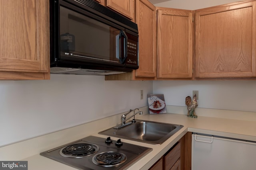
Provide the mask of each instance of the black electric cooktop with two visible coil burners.
POLYGON ((40 154, 80 170, 124 170, 151 150, 110 137, 88 136, 40 154))

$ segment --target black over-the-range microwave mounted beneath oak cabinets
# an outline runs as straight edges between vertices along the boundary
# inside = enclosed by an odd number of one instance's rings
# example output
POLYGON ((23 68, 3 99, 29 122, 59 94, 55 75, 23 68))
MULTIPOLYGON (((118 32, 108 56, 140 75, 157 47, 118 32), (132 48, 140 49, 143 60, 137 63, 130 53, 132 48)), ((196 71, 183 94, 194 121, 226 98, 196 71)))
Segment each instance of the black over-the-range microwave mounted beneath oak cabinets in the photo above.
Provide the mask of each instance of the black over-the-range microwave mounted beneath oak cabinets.
POLYGON ((50 0, 50 71, 117 74, 138 69, 138 25, 94 0, 50 0))

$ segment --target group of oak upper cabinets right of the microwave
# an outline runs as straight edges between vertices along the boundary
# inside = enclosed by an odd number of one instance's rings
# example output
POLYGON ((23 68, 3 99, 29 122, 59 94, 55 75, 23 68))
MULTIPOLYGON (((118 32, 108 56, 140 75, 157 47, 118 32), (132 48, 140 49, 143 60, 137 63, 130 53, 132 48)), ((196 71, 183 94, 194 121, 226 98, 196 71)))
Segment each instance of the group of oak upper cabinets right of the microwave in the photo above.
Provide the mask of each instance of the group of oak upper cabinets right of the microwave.
POLYGON ((140 68, 105 80, 255 79, 255 8, 255 0, 195 11, 156 7, 156 31, 154 6, 136 0, 140 68))

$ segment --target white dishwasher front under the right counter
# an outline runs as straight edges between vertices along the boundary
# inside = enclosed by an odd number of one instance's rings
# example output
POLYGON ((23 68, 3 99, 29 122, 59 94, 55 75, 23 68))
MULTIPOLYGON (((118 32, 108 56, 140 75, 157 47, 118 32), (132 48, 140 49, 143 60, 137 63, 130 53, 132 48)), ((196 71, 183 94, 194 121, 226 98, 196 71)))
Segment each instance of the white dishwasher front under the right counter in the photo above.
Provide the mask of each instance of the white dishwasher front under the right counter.
POLYGON ((256 170, 256 143, 192 134, 192 170, 256 170))

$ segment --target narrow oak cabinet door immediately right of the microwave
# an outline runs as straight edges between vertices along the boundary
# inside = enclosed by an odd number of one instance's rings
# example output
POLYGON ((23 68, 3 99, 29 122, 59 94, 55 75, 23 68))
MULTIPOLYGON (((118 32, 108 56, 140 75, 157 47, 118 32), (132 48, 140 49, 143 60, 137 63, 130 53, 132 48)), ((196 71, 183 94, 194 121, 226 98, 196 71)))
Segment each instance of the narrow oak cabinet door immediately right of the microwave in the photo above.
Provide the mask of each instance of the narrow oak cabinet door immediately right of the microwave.
POLYGON ((138 77, 156 77, 156 7, 148 0, 136 1, 136 23, 139 29, 138 77))

